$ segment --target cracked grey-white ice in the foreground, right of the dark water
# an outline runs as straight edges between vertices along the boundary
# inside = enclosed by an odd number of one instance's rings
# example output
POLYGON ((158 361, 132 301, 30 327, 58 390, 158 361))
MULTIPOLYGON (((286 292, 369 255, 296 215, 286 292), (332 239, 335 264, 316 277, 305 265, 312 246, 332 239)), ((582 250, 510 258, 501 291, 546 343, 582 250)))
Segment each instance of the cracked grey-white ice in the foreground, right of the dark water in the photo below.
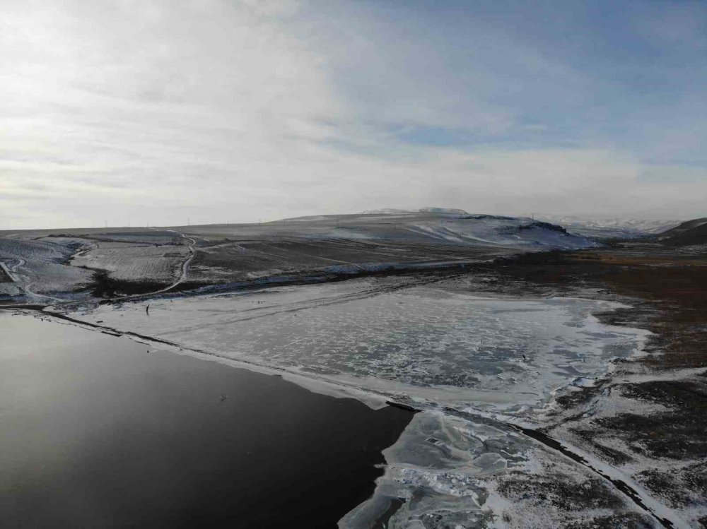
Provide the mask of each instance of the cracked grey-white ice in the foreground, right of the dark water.
POLYGON ((400 439, 383 451, 385 474, 373 497, 339 521, 368 528, 390 508, 388 528, 482 527, 493 519, 483 477, 528 462, 530 444, 518 434, 438 412, 414 417, 400 439))

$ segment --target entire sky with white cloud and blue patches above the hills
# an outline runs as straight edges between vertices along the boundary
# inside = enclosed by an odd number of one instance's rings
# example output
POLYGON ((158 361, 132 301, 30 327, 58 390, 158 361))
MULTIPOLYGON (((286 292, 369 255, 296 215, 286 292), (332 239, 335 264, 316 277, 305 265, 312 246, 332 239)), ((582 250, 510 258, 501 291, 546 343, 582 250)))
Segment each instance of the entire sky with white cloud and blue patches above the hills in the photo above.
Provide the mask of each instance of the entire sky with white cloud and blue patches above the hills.
POLYGON ((706 204, 705 1, 0 3, 0 230, 706 204))

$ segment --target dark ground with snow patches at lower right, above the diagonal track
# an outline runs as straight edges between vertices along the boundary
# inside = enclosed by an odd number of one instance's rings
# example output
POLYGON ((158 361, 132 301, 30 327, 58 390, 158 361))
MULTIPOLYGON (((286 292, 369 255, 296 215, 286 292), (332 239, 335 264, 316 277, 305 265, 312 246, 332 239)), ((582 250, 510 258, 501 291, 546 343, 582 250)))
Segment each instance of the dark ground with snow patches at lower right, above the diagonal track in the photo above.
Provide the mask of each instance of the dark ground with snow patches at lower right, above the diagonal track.
POLYGON ((597 454, 699 527, 707 521, 707 437, 704 410, 695 404, 707 394, 706 373, 656 373, 626 364, 595 398, 551 412, 548 430, 597 454))

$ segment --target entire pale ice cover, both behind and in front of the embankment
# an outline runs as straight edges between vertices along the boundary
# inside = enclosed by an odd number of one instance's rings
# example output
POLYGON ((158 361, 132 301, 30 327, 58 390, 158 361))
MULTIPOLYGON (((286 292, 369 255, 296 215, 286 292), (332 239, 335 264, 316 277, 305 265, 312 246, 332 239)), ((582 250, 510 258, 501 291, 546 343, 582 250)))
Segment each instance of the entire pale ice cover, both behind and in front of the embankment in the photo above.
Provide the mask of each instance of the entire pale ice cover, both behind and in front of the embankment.
POLYGON ((387 398, 413 403, 423 411, 384 451, 375 494, 340 527, 370 528, 381 516, 395 527, 482 527, 503 509, 484 480, 547 461, 503 422, 532 421, 556 390, 591 385, 610 359, 640 352, 647 333, 593 315, 619 304, 483 297, 462 285, 367 278, 165 297, 70 316, 373 407, 387 398))

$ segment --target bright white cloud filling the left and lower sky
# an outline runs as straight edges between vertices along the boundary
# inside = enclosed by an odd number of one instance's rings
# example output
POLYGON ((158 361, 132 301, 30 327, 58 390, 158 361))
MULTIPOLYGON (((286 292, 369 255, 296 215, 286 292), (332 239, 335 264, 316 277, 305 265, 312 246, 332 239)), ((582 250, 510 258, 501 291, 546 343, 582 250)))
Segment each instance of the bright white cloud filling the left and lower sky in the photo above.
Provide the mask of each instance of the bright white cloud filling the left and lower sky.
MULTIPOLYGON (((484 49, 468 71, 452 72, 434 42, 385 40, 385 26, 368 32, 370 17, 329 20, 315 8, 4 2, 0 227, 257 221, 431 204, 699 212, 699 170, 684 184, 643 184, 635 156, 598 143, 405 143, 388 126, 463 126, 491 138, 544 126, 493 102, 493 90, 524 87, 508 85, 484 49), (327 31, 315 31, 322 25, 327 31), (458 93, 467 80, 473 85, 458 93)), ((513 40, 489 42, 493 57, 525 64, 518 76, 533 90, 542 82, 532 72, 571 92, 584 79, 532 49, 520 53, 513 40)))

